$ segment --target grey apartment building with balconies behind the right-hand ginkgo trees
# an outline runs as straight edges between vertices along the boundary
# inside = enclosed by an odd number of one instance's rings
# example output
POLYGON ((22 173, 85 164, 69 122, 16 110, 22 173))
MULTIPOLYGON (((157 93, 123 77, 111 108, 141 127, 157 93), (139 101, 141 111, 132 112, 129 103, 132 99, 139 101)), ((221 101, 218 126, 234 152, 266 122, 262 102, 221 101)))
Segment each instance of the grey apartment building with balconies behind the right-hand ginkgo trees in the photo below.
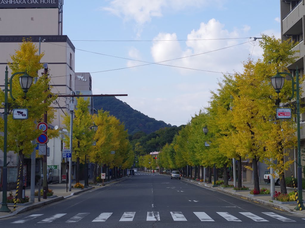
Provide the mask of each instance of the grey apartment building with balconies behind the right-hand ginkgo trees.
MULTIPOLYGON (((293 76, 296 75, 296 67, 300 75, 304 74, 305 69, 305 43, 303 40, 305 33, 305 0, 280 0, 280 13, 281 13, 281 38, 282 40, 295 40, 299 42, 293 50, 299 50, 296 53, 296 61, 288 66, 288 69, 293 76)), ((302 85, 305 90, 305 84, 302 85)), ((304 103, 305 94, 300 94, 301 105, 304 103)), ((301 126, 301 150, 305 148, 305 113, 300 113, 300 126, 301 126)), ((290 157, 297 161, 297 149, 290 152, 290 157)), ((302 165, 303 161, 302 161, 302 165)), ((297 173, 296 163, 291 166, 293 175, 297 173)), ((287 173, 291 175, 290 170, 287 173)))

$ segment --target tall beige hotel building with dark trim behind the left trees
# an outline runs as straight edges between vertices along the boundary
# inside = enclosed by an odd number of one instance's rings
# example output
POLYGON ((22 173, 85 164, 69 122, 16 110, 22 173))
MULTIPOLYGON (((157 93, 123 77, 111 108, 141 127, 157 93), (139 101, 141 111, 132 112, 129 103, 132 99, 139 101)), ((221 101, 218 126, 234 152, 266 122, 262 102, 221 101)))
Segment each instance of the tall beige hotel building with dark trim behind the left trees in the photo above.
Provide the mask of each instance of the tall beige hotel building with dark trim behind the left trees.
MULTIPOLYGON (((10 55, 19 49, 23 38, 30 38, 39 47, 44 56, 42 63, 48 63, 50 85, 53 93, 71 94, 74 91, 75 78, 75 47, 68 36, 63 35, 63 0, 43 0, 43 1, 0 1, 0 87, 4 87, 5 67, 10 61, 10 55), (39 42, 41 40, 41 42, 39 42)), ((43 70, 38 72, 41 75, 43 70)), ((9 75, 11 74, 9 69, 9 75)), ((31 75, 35 77, 36 75, 31 75)), ((56 119, 53 123, 48 123, 49 127, 62 125, 62 116, 68 112, 69 98, 58 98, 53 105, 56 119)), ((66 134, 66 132, 61 132, 66 134)), ((53 168, 53 176, 61 181, 62 168, 62 138, 50 139, 50 156, 47 164, 53 168)), ((3 152, 0 151, 0 183, 1 166, 3 166, 3 152), (2 155, 1 155, 2 154, 2 155)), ((10 161, 8 165, 8 182, 16 181, 17 157, 12 151, 8 153, 10 161)), ((30 159, 27 160, 30 163, 30 159)), ((40 173, 40 160, 36 161, 36 174, 40 173)), ((25 166, 29 164, 25 161, 25 166)), ((26 170, 30 176, 30 169, 26 170)), ((29 179, 27 178, 27 181, 29 179)))

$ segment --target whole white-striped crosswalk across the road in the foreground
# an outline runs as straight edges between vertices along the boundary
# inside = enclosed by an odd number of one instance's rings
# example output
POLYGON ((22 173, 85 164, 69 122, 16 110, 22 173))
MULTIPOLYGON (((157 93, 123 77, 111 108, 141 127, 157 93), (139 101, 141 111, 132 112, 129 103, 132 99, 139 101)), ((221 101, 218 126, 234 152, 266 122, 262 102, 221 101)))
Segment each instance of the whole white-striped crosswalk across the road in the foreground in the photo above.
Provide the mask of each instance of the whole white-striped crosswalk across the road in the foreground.
MULTIPOLYGON (((199 219, 197 221, 202 221, 202 222, 215 222, 215 220, 220 220, 220 219, 225 219, 228 222, 242 222, 245 221, 245 219, 252 219, 255 222, 270 222, 270 219, 277 219, 279 221, 282 222, 296 222, 295 220, 286 218, 284 216, 278 215, 274 212, 261 212, 260 215, 255 215, 251 212, 238 212, 237 214, 240 215, 236 215, 239 218, 231 215, 229 212, 210 212, 210 215, 208 215, 206 212, 193 212, 195 214, 195 216, 199 219), (215 216, 214 218, 212 218, 211 216, 215 216), (260 216, 265 216, 267 217, 267 219, 260 217, 260 216)), ((16 221, 13 221, 12 223, 27 223, 30 220, 34 220, 35 223, 52 223, 56 220, 60 221, 60 222, 66 222, 66 223, 77 223, 79 221, 81 221, 82 219, 84 219, 86 216, 89 216, 90 213, 78 213, 76 215, 72 215, 72 217, 69 218, 69 215, 67 213, 59 213, 59 214, 54 214, 51 216, 48 216, 44 219, 43 216, 44 214, 33 214, 30 216, 27 216, 23 219, 19 219, 16 221), (40 218, 42 220, 40 220, 40 218), (63 219, 63 220, 61 220, 63 219), (40 221, 37 221, 40 220, 40 221)), ((111 216, 113 214, 116 214, 114 216, 114 218, 118 218, 117 213, 115 212, 102 212, 100 213, 97 217, 95 217, 95 219, 91 220, 91 222, 106 222, 106 221, 110 221, 111 220, 111 216)), ((71 215, 70 215, 71 216, 71 215)), ((162 216, 160 216, 159 212, 147 212, 147 216, 146 216, 146 221, 162 221, 162 217, 165 218, 166 216, 169 216, 169 214, 167 215, 166 212, 162 213, 162 216)), ((187 218, 185 217, 185 215, 182 212, 179 211, 173 211, 170 212, 170 216, 171 219, 173 221, 190 221, 192 219, 194 219, 191 216, 191 218, 187 218)), ((90 216, 89 216, 90 217, 90 216)), ((93 217, 93 218, 94 218, 93 217)), ((119 222, 132 222, 134 220, 134 218, 136 217, 136 212, 124 212, 123 215, 120 217, 120 219, 118 220, 119 222)), ((144 220, 144 218, 139 218, 137 217, 137 221, 139 220, 144 220)), ((112 219, 113 221, 113 219, 112 219)))

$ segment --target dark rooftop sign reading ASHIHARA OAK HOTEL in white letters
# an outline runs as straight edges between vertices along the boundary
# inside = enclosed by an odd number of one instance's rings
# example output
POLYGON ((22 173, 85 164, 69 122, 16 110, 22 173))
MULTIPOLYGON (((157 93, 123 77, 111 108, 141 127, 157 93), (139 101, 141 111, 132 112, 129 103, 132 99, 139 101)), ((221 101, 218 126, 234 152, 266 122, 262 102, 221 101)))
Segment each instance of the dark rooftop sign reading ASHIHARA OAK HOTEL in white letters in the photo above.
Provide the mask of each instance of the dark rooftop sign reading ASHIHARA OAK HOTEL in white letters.
POLYGON ((58 8, 61 0, 0 0, 0 8, 58 8))

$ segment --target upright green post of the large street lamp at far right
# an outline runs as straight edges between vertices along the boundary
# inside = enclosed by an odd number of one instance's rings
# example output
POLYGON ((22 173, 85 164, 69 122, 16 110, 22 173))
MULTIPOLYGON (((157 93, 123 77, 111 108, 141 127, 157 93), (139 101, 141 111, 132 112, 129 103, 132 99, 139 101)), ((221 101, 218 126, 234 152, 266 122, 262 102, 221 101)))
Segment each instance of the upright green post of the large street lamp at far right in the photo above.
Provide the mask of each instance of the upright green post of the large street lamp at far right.
POLYGON ((299 87, 299 71, 297 69, 296 69, 296 124, 297 124, 297 135, 298 135, 298 195, 299 195, 300 205, 302 209, 305 209, 302 199, 303 197, 302 197, 302 166, 301 166, 301 137, 300 137, 300 87, 299 87))

